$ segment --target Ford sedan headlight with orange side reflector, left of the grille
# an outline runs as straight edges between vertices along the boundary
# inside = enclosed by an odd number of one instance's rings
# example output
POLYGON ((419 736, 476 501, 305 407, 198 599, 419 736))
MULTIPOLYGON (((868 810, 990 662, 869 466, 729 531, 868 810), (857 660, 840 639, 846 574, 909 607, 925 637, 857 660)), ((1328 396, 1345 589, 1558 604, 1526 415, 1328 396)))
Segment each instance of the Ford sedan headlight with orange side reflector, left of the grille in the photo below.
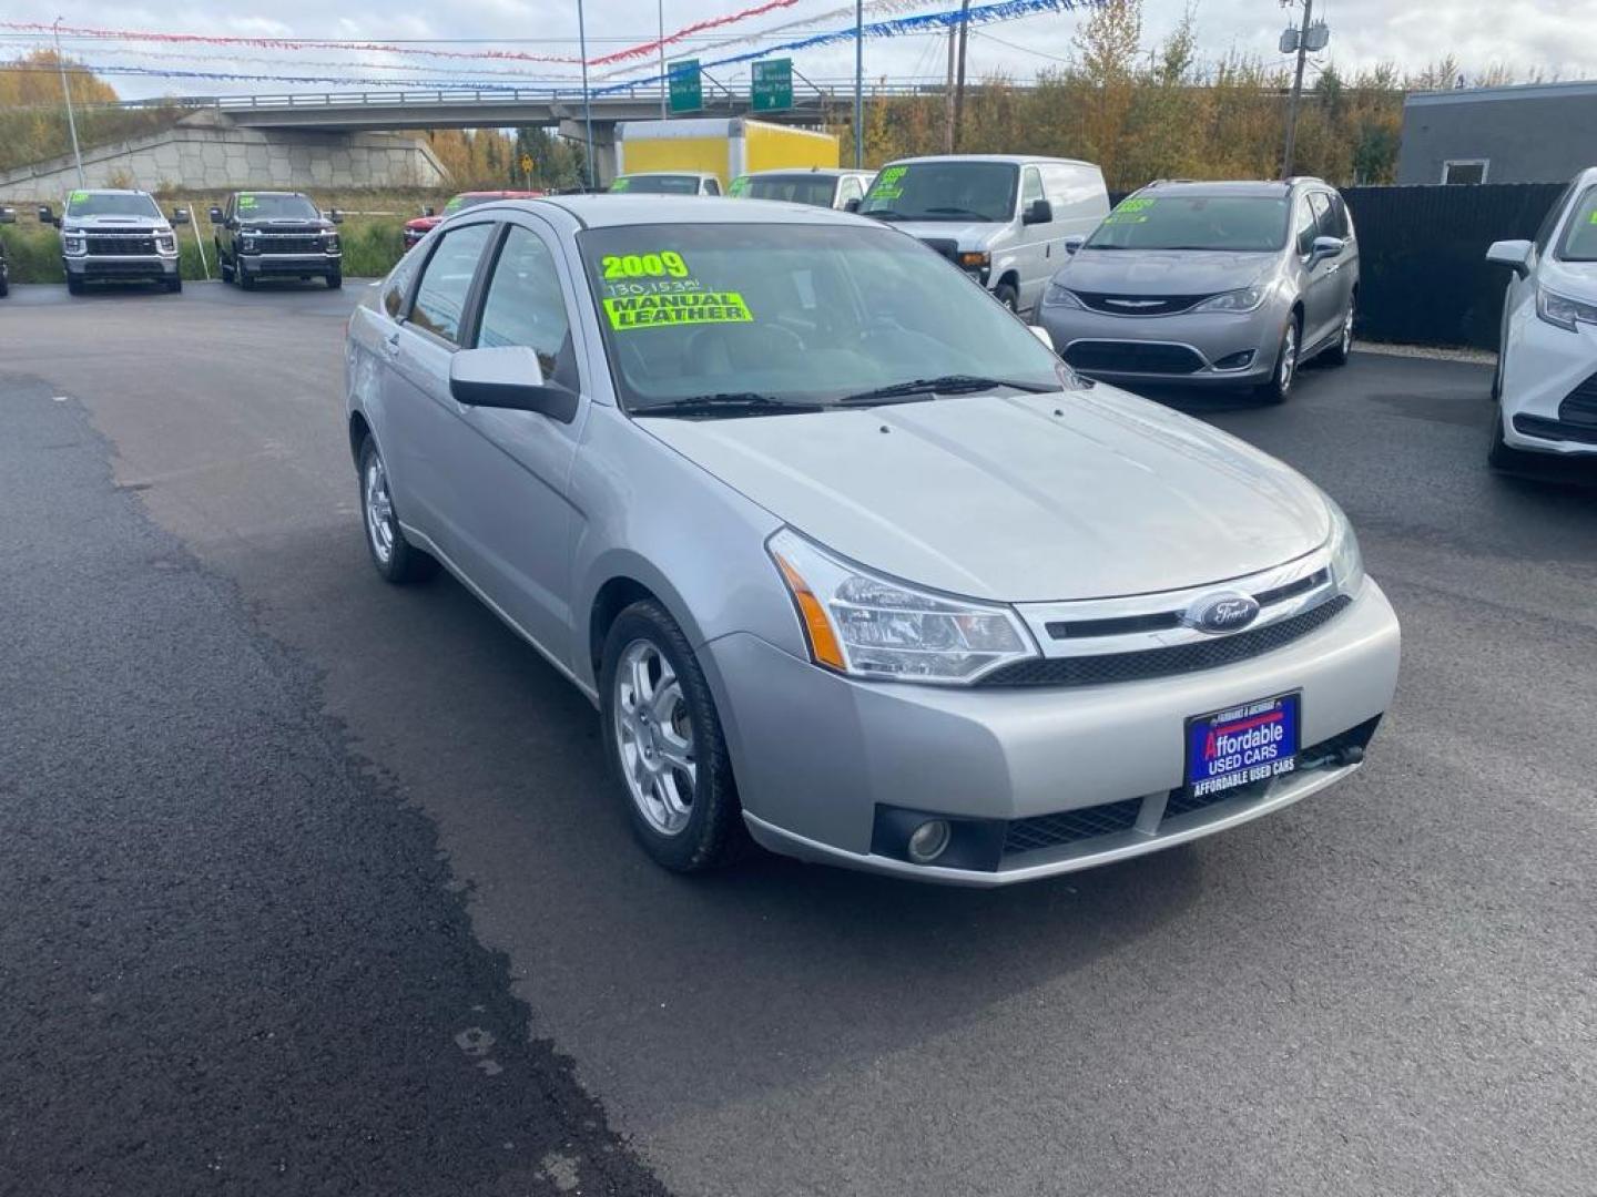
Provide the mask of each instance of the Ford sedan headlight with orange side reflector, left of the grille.
POLYGON ((810 645, 850 677, 968 685, 1036 656, 1008 606, 928 594, 832 557, 791 528, 768 541, 810 645))

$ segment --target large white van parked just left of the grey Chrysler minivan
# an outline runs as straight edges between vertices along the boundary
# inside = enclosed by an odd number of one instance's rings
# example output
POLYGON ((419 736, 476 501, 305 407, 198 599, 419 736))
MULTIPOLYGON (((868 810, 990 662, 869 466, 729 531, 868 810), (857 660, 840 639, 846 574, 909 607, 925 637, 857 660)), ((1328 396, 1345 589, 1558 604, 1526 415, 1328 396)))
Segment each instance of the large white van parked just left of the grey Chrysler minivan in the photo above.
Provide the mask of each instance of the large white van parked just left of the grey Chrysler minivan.
POLYGON ((1014 311, 1032 311, 1065 260, 1065 238, 1108 215, 1108 190, 1097 166, 1072 158, 899 158, 858 211, 920 238, 1014 311))

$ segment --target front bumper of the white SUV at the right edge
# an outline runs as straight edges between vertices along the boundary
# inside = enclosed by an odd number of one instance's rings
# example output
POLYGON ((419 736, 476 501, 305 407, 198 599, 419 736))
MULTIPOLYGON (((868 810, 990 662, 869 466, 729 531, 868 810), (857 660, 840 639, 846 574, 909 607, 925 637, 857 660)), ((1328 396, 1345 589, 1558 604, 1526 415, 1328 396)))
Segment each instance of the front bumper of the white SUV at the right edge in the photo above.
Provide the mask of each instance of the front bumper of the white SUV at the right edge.
POLYGON ((1567 332, 1527 305, 1509 322, 1503 359, 1503 444, 1559 456, 1597 456, 1597 329, 1567 332))

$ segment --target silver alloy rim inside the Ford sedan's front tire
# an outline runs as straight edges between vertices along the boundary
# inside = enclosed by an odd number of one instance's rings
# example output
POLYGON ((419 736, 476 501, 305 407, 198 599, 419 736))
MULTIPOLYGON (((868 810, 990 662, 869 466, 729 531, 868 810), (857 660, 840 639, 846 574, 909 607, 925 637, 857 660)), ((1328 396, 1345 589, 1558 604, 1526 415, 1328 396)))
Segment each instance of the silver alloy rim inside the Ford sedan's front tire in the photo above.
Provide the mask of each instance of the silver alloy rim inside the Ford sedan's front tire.
POLYGON ((652 640, 634 640, 615 670, 615 747, 628 793, 661 835, 693 817, 698 761, 682 681, 652 640))

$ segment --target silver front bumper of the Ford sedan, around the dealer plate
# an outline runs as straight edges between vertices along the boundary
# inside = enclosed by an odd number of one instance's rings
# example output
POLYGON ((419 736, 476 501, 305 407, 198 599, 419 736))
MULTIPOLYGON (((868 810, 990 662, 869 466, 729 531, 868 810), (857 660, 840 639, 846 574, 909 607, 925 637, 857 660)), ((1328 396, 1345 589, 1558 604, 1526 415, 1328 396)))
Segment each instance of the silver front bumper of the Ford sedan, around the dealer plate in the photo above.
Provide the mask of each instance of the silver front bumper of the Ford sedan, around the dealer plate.
MULTIPOLYGON (((1234 666, 1076 688, 861 683, 752 635, 707 646, 744 819, 771 851, 923 881, 1001 886, 1121 860, 1234 827, 1354 768, 1318 745, 1364 736, 1397 683, 1399 630, 1373 581, 1319 630, 1234 666), (1195 806, 1182 788, 1193 715, 1302 693, 1305 768, 1195 806), (1362 731, 1361 731, 1362 729, 1362 731), (1129 804, 1129 806, 1127 806, 1129 804), (1099 809, 1132 825, 1006 851, 997 867, 912 865, 874 846, 886 808, 1019 820, 1099 809)), ((1011 838, 1014 839, 1014 838, 1011 838)))

